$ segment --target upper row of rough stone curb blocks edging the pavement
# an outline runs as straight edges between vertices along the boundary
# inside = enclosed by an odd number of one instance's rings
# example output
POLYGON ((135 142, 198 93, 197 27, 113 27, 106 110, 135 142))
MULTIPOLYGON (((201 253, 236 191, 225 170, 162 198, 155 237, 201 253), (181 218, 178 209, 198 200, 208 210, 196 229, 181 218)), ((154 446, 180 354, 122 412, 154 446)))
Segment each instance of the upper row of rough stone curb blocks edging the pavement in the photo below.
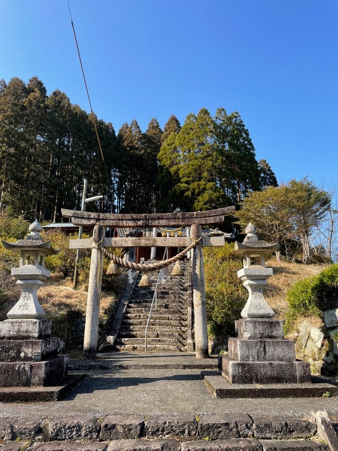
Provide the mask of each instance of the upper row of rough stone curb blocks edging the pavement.
MULTIPOLYGON (((0 419, 0 440, 110 441, 121 439, 175 437, 186 440, 234 438, 310 438, 316 424, 296 418, 252 418, 239 414, 210 415, 107 415, 0 419)), ((1 448, 0 448, 1 450, 1 448)))

